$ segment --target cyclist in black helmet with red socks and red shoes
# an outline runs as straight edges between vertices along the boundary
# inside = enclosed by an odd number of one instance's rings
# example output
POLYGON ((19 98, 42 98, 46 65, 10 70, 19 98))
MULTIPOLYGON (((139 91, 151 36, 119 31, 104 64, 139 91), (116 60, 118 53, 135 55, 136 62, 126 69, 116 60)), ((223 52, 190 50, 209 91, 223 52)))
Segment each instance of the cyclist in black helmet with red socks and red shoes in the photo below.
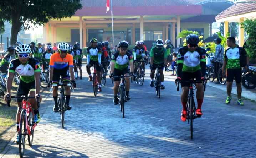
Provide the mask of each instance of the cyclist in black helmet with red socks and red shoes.
POLYGON ((177 55, 177 80, 180 81, 182 87, 181 103, 183 110, 181 111, 181 120, 186 121, 187 109, 186 103, 189 92, 189 80, 196 82, 196 99, 197 109, 196 115, 201 117, 203 115, 201 111, 204 91, 202 80, 205 80, 205 65, 206 65, 206 50, 198 47, 199 37, 195 34, 190 34, 186 37, 186 43, 188 46, 181 47, 177 55))

